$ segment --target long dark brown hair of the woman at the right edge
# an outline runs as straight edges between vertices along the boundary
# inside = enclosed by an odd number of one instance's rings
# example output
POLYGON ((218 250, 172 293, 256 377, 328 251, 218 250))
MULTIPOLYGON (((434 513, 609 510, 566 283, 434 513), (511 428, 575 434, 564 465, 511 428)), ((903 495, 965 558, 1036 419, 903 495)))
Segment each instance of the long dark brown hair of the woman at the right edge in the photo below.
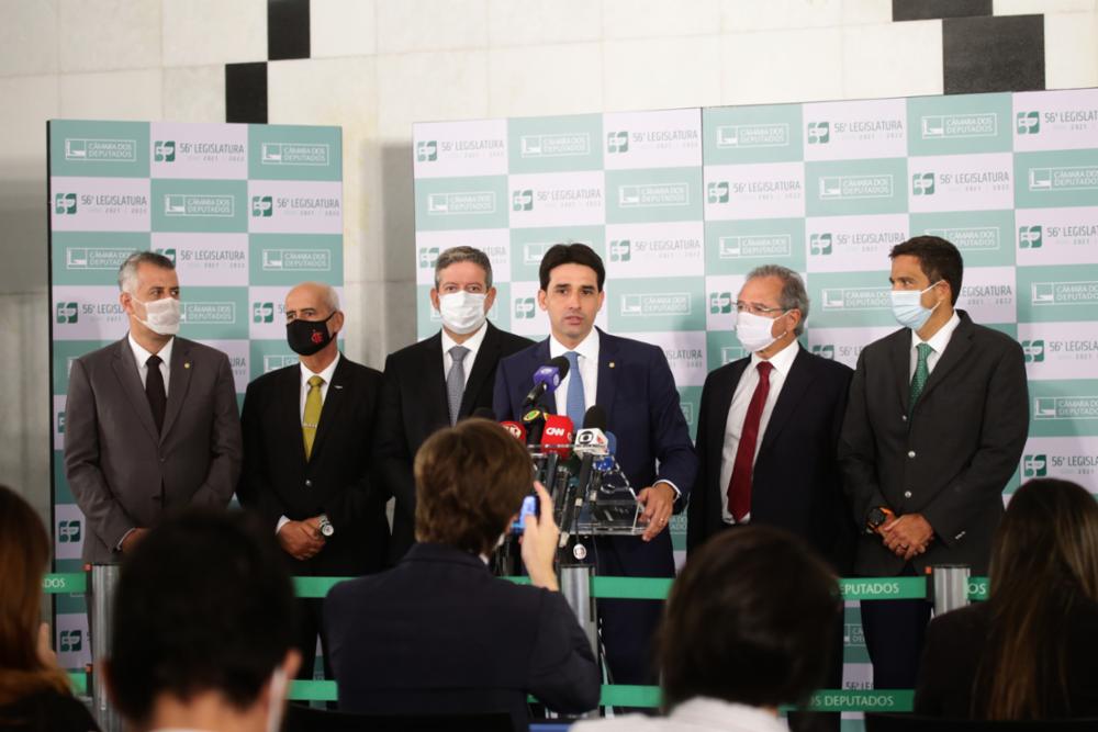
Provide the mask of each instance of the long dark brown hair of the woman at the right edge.
POLYGON ((1098 503, 1069 481, 1015 493, 991 544, 991 621, 973 694, 984 719, 1046 719, 1068 709, 1065 627, 1098 603, 1098 503))

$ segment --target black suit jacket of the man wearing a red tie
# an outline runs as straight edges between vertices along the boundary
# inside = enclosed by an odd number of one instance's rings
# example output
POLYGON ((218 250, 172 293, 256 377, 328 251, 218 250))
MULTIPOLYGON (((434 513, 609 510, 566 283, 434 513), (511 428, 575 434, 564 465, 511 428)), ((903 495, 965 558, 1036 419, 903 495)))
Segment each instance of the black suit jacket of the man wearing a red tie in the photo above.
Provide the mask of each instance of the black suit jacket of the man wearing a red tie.
MULTIPOLYGON (((751 359, 710 372, 697 424, 698 476, 687 509, 686 550, 727 526, 720 460, 732 395, 751 359)), ((752 473, 751 523, 776 526, 810 543, 840 574, 853 558, 854 527, 836 450, 853 371, 799 349, 762 436, 752 473)))

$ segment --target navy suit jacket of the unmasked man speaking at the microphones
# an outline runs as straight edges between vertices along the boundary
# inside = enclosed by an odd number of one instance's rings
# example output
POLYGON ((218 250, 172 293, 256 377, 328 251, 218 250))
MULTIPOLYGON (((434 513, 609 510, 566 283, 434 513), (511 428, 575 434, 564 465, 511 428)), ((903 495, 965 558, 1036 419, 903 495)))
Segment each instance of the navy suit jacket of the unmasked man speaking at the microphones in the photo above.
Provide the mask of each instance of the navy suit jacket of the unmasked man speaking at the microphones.
MULTIPOLYGON (((682 492, 675 503, 675 510, 681 511, 694 485, 697 457, 668 359, 658 346, 602 330, 598 338, 595 402, 606 410, 609 431, 617 437, 618 464, 638 493, 660 480, 672 482, 682 492)), ((519 418, 523 399, 534 387, 534 372, 548 361, 546 339, 500 362, 493 402, 496 417, 519 418)), ((545 401, 550 412, 557 410, 552 394, 545 401)), ((621 552, 627 552, 620 561, 629 574, 674 576, 670 532, 661 531, 649 543, 637 539, 630 540, 628 547, 624 542, 617 544, 621 552)))

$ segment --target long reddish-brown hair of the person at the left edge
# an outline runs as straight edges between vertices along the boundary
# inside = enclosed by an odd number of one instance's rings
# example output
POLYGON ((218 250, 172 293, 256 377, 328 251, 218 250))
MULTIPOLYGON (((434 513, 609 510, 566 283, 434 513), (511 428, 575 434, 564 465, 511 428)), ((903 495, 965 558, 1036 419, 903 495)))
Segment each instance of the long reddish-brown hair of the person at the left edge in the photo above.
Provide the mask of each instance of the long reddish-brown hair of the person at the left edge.
POLYGON ((38 657, 42 575, 49 534, 22 496, 0 485, 0 705, 49 689, 68 694, 65 674, 38 657))

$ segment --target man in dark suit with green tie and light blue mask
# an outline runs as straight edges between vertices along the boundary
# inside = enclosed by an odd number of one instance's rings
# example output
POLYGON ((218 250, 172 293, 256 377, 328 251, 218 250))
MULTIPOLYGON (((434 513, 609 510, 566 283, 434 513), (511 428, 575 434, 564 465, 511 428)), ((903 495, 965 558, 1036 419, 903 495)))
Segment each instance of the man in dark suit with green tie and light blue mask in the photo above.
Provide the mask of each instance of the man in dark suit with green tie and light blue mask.
MULTIPOLYGON (((954 309, 964 264, 952 244, 919 236, 889 257, 905 327, 859 357, 839 443, 862 529, 854 572, 966 564, 986 574, 1029 425, 1022 349, 954 309)), ((862 603, 875 687, 915 686, 929 612, 923 600, 862 603)))

